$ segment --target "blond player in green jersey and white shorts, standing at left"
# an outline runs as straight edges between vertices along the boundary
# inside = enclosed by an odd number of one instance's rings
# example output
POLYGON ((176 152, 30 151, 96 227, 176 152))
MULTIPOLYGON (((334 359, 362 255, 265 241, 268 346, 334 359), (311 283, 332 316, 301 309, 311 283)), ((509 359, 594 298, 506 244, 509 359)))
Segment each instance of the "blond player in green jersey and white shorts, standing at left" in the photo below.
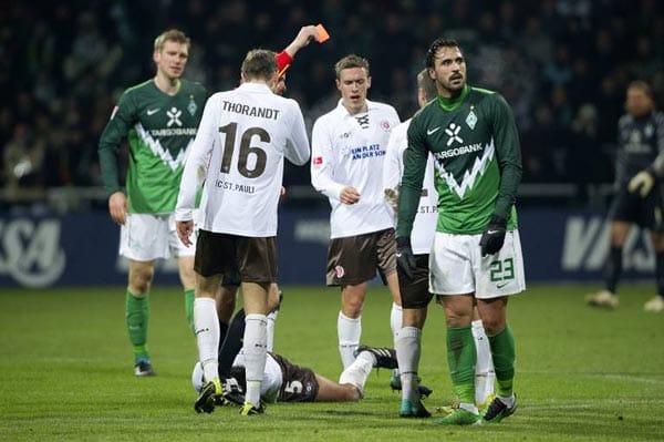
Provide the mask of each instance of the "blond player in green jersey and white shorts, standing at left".
POLYGON ((147 350, 148 295, 155 259, 178 258, 186 315, 193 323, 194 253, 175 232, 175 202, 185 158, 206 100, 199 83, 183 79, 190 41, 179 30, 155 39, 153 79, 124 91, 98 145, 111 218, 121 226, 120 255, 129 260, 126 325, 134 350, 134 373, 154 376, 147 350), (125 189, 120 179, 120 148, 128 143, 125 189))

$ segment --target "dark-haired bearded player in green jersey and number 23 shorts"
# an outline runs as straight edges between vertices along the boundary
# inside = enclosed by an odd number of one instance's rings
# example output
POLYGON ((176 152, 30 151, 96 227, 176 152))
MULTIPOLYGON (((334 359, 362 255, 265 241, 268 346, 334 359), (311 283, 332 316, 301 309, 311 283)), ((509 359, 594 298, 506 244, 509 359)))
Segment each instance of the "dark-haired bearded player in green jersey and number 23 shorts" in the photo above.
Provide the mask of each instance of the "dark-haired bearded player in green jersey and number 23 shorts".
POLYGON ((507 323, 510 295, 526 288, 515 197, 521 179, 519 136, 500 94, 466 83, 458 43, 438 39, 426 55, 438 96, 408 127, 396 229, 397 264, 412 274, 411 230, 422 195, 427 156, 434 156, 438 220, 429 256, 429 290, 447 319, 447 359, 459 408, 440 424, 480 421, 475 405, 476 351, 470 322, 477 302, 489 337, 497 390, 484 420, 516 410, 515 340, 507 323))

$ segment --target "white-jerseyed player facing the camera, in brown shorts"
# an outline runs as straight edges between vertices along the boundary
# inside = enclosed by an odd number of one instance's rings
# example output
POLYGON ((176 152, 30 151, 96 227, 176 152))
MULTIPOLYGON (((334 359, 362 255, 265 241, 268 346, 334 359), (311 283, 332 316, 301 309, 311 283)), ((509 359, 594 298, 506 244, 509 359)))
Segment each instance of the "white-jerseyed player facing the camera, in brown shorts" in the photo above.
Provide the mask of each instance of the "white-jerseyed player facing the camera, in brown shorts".
POLYGON ((393 218, 382 183, 390 131, 400 120, 391 105, 366 99, 365 59, 347 55, 334 68, 341 100, 313 125, 311 183, 332 207, 326 284, 341 287, 338 335, 345 369, 360 345, 364 297, 376 269, 392 291, 394 336, 401 329, 393 218))

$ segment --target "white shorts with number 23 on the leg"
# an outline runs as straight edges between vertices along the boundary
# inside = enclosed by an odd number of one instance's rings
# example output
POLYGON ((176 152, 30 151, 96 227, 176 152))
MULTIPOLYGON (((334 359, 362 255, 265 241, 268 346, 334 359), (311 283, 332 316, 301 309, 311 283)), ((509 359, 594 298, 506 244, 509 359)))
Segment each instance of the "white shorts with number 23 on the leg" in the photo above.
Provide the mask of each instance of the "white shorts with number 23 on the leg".
POLYGON ((478 235, 436 232, 429 255, 429 290, 435 295, 475 294, 477 299, 515 295, 526 290, 519 232, 505 235, 496 255, 481 257, 478 235))

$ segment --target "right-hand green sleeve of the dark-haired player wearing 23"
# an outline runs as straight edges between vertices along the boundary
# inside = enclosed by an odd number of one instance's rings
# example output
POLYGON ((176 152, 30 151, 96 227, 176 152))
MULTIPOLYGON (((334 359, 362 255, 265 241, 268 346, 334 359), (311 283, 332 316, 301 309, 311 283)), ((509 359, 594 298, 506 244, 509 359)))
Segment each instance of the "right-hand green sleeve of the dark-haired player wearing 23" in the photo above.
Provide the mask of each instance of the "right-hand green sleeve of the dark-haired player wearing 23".
POLYGON ((509 219, 521 183, 521 146, 515 116, 509 104, 499 94, 494 95, 494 137, 500 168, 500 189, 496 199, 496 215, 509 219))

